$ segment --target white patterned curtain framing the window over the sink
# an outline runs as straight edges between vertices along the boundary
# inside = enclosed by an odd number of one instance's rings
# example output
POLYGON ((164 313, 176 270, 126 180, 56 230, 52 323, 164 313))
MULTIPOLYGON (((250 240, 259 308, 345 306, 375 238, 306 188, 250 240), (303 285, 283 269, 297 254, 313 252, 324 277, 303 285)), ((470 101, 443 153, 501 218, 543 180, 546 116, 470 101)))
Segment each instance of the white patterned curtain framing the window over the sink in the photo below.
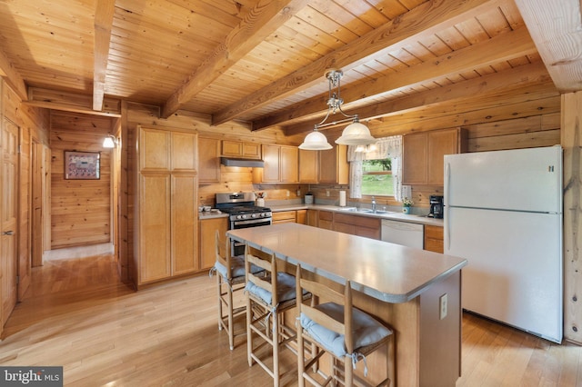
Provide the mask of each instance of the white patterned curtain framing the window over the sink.
POLYGON ((394 198, 402 201, 402 136, 393 135, 390 137, 378 138, 376 140, 376 150, 369 152, 356 152, 356 145, 347 147, 347 161, 350 170, 349 196, 354 199, 362 197, 362 161, 381 160, 390 158, 392 160, 392 182, 394 184, 394 198))

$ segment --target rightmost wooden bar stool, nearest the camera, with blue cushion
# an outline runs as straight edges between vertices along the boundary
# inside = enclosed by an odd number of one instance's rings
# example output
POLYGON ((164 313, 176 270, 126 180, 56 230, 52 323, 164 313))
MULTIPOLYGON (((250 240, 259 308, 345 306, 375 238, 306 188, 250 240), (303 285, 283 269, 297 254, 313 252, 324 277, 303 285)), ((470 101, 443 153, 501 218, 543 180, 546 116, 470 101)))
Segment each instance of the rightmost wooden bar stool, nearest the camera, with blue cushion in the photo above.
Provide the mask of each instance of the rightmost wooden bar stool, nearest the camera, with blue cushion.
MULTIPOLYGON (((360 311, 352 305, 352 287, 346 281, 344 294, 338 293, 323 283, 309 281, 301 276, 301 265, 296 267, 296 292, 309 292, 312 300, 323 299, 325 303, 310 306, 297 304, 299 326, 297 329, 297 371, 299 386, 305 385, 305 380, 316 386, 325 386, 329 382, 337 382, 352 386, 354 379, 364 383, 354 375, 356 363, 363 360, 365 363, 364 375, 367 374, 366 356, 386 346, 394 348, 393 331, 386 325, 379 323, 374 317, 360 311), (392 340, 392 345, 389 345, 392 340), (315 351, 306 363, 305 342, 315 345, 315 351), (331 375, 324 375, 325 382, 318 382, 315 378, 317 362, 324 353, 333 357, 331 375), (339 363, 339 364, 338 364, 339 363), (311 369, 311 370, 310 370, 311 369), (344 374, 343 379, 341 373, 344 374)), ((394 356, 390 356, 394 369, 394 356)), ((377 384, 390 385, 390 379, 377 384)), ((323 372, 320 373, 323 375, 323 372)), ((321 379, 321 378, 320 378, 321 379)))

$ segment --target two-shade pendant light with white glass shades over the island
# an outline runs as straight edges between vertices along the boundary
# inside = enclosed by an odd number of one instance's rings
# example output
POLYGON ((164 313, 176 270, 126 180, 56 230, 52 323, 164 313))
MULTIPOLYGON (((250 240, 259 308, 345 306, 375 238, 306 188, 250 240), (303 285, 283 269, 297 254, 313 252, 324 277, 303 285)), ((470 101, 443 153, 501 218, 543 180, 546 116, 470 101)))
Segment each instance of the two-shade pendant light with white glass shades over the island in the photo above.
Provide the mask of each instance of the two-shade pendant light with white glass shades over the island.
POLYGON ((329 125, 343 124, 352 121, 344 129, 341 137, 336 140, 336 144, 343 145, 367 145, 374 143, 376 139, 370 135, 370 130, 365 124, 360 123, 357 114, 346 114, 342 110, 342 104, 344 100, 341 98, 340 90, 340 80, 344 73, 341 70, 330 70, 326 73, 326 78, 329 83, 329 97, 327 99, 327 114, 323 121, 315 125, 315 129, 312 133, 307 134, 303 144, 299 145, 299 149, 310 149, 310 150, 325 150, 331 149, 332 146, 327 143, 326 136, 321 134, 317 130, 322 127, 329 125), (346 118, 325 124, 327 118, 330 114, 336 114, 339 111, 346 118))

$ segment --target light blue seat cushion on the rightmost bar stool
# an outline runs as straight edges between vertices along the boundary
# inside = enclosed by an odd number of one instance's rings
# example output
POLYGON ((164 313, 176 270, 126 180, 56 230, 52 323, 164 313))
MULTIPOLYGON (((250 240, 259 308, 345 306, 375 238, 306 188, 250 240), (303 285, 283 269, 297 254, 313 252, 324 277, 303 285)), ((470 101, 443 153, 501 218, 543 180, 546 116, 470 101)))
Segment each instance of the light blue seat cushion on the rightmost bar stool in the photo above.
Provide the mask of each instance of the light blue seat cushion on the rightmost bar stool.
MULTIPOLYGON (((316 305, 315 308, 326 313, 340 323, 344 322, 344 305, 337 303, 321 303, 316 305)), ((301 313, 300 322, 306 332, 313 337, 316 342, 326 348, 328 352, 334 353, 337 357, 352 354, 347 353, 343 334, 331 331, 326 327, 315 323, 304 313, 301 313)), ((353 308, 352 322, 354 352, 357 352, 358 348, 379 342, 392 334, 390 329, 386 328, 382 323, 379 323, 374 317, 356 308, 353 308)))

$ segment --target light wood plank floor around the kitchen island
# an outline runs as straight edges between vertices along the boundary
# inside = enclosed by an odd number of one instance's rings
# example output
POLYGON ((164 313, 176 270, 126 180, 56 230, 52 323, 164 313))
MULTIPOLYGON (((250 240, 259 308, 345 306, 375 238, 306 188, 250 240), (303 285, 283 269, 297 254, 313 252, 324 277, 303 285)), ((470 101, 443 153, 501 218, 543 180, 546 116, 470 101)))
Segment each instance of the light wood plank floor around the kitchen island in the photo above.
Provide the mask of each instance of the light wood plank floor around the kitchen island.
MULTIPOLYGON (((67 386, 271 384, 248 367, 244 337, 228 349, 206 275, 138 293, 110 256, 45 263, 5 325, 2 365, 62 365, 67 386)), ((285 352, 284 352, 285 353, 285 352)), ((471 314, 457 386, 582 386, 582 347, 557 345, 471 314)), ((284 367, 293 368, 286 351, 284 367)), ((295 373, 285 380, 296 385, 295 373)))

